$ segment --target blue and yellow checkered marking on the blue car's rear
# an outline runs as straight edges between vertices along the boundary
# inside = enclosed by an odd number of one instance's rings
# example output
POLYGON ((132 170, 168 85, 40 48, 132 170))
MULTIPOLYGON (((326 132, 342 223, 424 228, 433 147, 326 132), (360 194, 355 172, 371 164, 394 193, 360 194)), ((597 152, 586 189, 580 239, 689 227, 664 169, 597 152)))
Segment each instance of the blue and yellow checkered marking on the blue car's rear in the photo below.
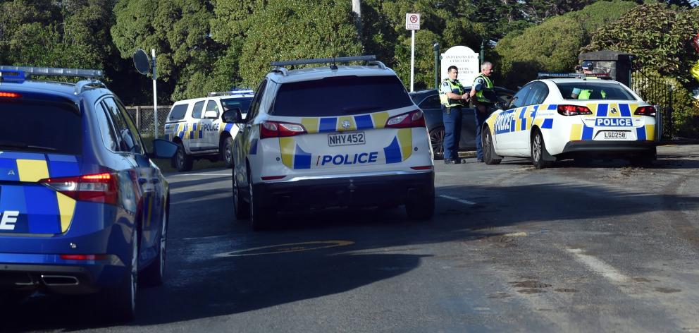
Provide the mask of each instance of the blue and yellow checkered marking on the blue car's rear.
POLYGON ((0 193, 0 211, 20 212, 11 232, 62 234, 68 231, 75 213, 75 200, 37 181, 78 175, 78 159, 72 155, 0 152, 0 180, 17 182, 3 185, 0 193))

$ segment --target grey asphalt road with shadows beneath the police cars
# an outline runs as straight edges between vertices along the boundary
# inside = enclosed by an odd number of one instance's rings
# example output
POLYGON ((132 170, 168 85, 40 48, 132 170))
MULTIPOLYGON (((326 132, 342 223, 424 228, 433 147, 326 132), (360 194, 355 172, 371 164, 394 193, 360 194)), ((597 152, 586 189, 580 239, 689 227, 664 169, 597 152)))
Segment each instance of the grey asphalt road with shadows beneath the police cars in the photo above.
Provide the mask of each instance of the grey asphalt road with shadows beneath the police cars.
POLYGON ((171 174, 168 281, 135 322, 39 297, 0 331, 699 332, 698 157, 438 162, 431 222, 327 210, 261 233, 233 217, 230 170, 171 174))

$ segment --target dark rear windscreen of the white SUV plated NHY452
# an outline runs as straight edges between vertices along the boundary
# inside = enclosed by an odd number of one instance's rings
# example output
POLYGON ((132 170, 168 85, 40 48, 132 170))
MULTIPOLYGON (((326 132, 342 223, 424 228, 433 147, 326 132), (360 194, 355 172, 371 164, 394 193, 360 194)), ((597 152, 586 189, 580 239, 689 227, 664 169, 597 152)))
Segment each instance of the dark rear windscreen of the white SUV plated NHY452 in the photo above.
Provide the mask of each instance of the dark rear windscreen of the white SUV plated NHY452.
POLYGON ((345 116, 413 105, 395 76, 339 76, 279 88, 270 114, 275 116, 345 116))

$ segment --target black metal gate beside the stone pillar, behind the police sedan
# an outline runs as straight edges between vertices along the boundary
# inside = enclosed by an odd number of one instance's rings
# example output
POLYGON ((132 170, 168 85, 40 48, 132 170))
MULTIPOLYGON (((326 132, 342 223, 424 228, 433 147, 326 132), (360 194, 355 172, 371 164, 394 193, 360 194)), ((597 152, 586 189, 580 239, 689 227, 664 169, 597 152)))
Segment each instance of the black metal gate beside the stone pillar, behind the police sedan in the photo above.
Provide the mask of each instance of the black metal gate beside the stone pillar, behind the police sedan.
POLYGON ((671 139, 672 128, 672 85, 660 74, 647 74, 634 71, 631 74, 631 90, 645 102, 657 109, 655 129, 657 138, 671 139))

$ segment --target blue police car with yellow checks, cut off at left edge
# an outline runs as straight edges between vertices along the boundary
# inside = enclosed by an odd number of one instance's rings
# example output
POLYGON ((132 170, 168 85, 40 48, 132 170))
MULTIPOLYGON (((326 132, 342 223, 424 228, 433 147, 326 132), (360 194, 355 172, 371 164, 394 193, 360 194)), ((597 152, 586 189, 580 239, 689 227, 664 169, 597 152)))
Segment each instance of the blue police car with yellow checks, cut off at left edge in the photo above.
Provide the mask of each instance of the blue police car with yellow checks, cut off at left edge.
POLYGON ((100 76, 0 66, 0 298, 97 293, 112 319, 130 320, 138 281, 163 282, 170 193, 151 159, 177 146, 147 152, 100 76))

